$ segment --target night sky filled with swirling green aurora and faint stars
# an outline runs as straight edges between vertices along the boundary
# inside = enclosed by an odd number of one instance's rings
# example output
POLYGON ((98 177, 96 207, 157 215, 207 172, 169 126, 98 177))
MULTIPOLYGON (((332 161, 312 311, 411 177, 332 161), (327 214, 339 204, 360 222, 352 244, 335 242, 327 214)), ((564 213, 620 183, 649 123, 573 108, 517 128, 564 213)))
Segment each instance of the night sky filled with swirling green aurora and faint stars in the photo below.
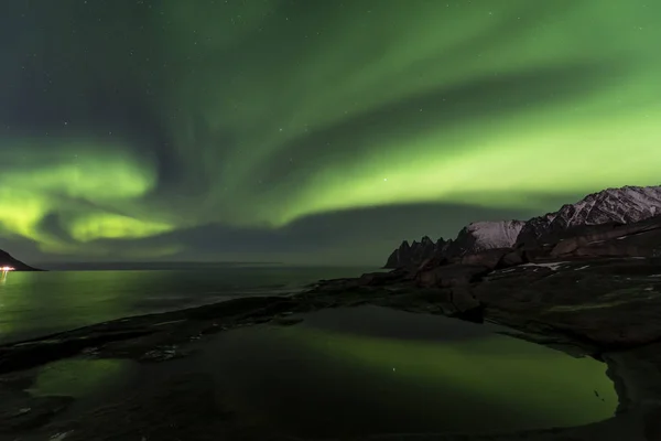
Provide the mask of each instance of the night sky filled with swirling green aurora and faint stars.
POLYGON ((382 263, 659 184, 661 2, 4 0, 0 248, 382 263))

